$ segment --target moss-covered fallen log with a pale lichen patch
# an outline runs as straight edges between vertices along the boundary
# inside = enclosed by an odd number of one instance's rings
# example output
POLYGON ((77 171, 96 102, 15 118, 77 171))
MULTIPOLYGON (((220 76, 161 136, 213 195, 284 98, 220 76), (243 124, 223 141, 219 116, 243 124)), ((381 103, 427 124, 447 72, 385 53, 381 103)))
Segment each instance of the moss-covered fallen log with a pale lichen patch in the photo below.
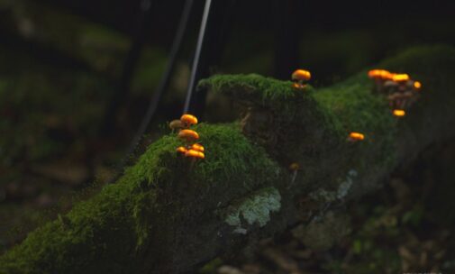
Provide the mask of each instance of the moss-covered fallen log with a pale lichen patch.
POLYGON ((305 91, 258 75, 203 80, 201 88, 249 109, 240 123, 196 126, 205 160, 177 155, 177 134, 163 136, 114 185, 6 252, 0 273, 189 271, 380 187, 401 163, 455 135, 455 49, 416 48, 380 67, 423 83, 402 119, 371 92, 366 71, 305 91), (350 132, 366 138, 347 142, 350 132))

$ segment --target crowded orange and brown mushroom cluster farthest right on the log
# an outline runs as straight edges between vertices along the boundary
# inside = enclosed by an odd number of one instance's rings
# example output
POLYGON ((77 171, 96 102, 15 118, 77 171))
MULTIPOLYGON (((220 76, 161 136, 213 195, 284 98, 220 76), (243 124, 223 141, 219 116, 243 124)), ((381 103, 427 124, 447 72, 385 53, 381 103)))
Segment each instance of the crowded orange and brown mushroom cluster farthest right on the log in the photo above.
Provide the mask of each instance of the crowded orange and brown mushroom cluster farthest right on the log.
POLYGON ((405 109, 417 100, 422 84, 408 74, 392 73, 385 69, 369 70, 369 78, 375 81, 375 92, 387 96, 392 114, 405 116, 405 109))

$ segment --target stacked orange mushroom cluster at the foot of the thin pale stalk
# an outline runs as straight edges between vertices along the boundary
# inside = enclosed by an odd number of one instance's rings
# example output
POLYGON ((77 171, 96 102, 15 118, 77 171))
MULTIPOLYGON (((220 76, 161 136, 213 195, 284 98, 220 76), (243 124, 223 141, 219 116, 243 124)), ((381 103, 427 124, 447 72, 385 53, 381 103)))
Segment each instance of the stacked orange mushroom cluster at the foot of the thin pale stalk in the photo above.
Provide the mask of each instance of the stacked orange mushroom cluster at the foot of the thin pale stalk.
POLYGON ((174 120, 169 123, 171 130, 178 130, 177 137, 185 142, 185 145, 177 148, 177 153, 185 155, 185 157, 196 159, 205 159, 204 147, 197 143, 199 134, 190 129, 192 125, 197 123, 197 118, 191 114, 183 114, 180 120, 174 120))

